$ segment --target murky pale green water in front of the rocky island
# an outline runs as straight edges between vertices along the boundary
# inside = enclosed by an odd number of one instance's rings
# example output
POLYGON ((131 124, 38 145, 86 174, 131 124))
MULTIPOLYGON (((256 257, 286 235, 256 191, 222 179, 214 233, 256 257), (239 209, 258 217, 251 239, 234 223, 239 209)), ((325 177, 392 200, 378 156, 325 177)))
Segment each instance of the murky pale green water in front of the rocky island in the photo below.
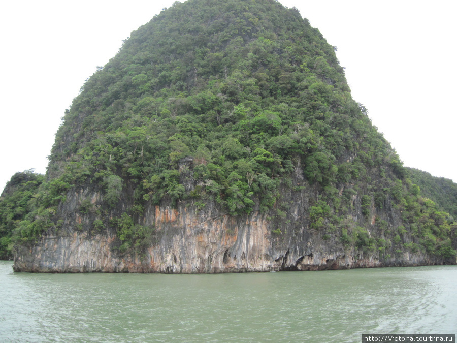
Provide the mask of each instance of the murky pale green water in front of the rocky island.
POLYGON ((361 342, 456 333, 457 266, 217 275, 13 273, 0 341, 361 342))

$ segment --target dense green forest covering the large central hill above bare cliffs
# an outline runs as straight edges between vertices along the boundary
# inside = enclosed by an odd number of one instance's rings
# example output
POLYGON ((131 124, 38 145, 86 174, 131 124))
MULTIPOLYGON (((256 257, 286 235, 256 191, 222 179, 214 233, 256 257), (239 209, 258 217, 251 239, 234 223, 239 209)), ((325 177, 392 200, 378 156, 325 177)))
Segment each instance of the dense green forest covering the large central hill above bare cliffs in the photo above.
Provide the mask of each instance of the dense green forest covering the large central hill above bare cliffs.
POLYGON ((48 176, 28 216, 7 229, 18 243, 58 230, 69 190, 104 194, 102 208, 81 202, 96 220, 79 229, 115 228, 128 253, 152 230, 140 225, 148 203, 258 209, 280 235, 284 190, 307 189, 308 227, 324 239, 455 254, 447 213, 420 196, 352 100, 334 47, 274 0, 176 2, 133 32, 66 111, 48 176))

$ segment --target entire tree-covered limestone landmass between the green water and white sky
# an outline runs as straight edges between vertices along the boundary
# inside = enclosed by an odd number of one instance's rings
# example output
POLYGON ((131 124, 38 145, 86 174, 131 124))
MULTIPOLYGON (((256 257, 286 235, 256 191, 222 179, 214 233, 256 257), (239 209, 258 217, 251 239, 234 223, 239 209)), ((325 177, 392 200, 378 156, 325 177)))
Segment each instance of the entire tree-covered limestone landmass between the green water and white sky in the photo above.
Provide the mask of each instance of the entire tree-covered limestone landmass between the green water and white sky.
POLYGON ((403 166, 296 9, 187 0, 82 86, 46 175, 12 176, 0 255, 31 272, 455 264, 456 195, 403 166))

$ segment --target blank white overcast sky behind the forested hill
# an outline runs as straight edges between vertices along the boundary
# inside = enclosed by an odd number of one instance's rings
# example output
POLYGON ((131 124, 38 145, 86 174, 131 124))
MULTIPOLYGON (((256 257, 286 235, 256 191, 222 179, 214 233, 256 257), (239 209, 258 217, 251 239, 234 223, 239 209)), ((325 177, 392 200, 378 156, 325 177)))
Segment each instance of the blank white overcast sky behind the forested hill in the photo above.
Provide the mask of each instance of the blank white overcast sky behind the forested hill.
MULTIPOLYGON (((259 0, 260 1, 260 0, 259 0)), ((0 5, 0 189, 45 173, 64 110, 130 32, 173 0, 20 1, 0 5)), ((452 1, 280 1, 338 48, 352 97, 406 166, 457 181, 457 14, 452 1)))

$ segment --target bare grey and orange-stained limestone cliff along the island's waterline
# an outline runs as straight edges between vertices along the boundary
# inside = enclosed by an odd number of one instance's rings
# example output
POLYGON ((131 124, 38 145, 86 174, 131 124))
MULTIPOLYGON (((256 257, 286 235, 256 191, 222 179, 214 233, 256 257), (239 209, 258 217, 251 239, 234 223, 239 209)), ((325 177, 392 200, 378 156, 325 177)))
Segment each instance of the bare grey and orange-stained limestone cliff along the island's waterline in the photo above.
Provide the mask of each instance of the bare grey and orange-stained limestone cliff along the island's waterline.
MULTIPOLYGON (((289 192, 293 205, 280 223, 258 210, 233 217, 220 213, 214 204, 205 210, 191 203, 179 203, 176 208, 149 206, 141 221, 155 227, 153 243, 142 254, 122 255, 113 248, 118 240, 114 230, 90 234, 75 229, 75 223, 89 220, 71 205, 80 196, 73 193, 67 202, 67 232, 44 235, 31 248, 21 247, 15 254, 15 271, 221 273, 455 263, 420 252, 364 253, 335 238, 322 239, 322 232, 307 225, 310 193, 305 191, 289 192), (272 233, 278 226, 281 233, 272 233)), ((103 202, 97 194, 90 197, 103 202)))

